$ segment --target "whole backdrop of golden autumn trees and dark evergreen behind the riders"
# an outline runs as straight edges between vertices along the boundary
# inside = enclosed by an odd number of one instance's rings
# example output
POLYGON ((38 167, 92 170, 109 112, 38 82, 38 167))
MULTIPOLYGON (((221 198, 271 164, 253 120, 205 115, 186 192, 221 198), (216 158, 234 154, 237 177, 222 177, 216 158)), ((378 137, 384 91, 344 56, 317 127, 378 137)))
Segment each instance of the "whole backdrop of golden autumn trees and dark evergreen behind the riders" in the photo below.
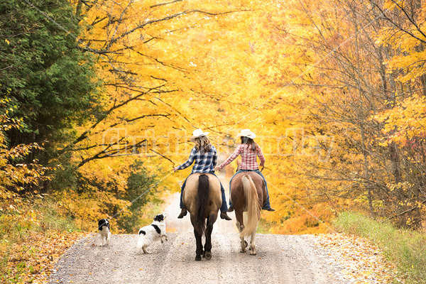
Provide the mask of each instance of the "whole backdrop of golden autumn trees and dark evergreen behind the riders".
POLYGON ((41 192, 82 228, 109 215, 133 231, 189 173, 170 175, 194 129, 229 154, 249 128, 266 153, 271 231, 321 232, 346 210, 425 222, 425 1, 6 2, 10 214, 41 192))

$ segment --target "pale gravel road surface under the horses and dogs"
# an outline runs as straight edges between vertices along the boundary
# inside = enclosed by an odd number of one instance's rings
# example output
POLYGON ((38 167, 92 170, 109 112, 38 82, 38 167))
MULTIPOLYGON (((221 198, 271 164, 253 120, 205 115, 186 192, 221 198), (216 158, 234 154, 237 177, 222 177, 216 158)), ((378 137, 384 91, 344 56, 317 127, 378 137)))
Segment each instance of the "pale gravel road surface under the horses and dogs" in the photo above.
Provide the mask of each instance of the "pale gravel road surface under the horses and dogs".
POLYGON ((110 246, 98 246, 92 234, 60 258, 50 283, 345 283, 329 252, 315 246, 315 236, 258 234, 257 255, 240 253, 234 213, 232 221, 214 224, 212 259, 195 261, 190 218, 176 218, 179 194, 170 200, 168 241, 151 245, 151 254, 136 250, 136 234, 112 235, 110 246))

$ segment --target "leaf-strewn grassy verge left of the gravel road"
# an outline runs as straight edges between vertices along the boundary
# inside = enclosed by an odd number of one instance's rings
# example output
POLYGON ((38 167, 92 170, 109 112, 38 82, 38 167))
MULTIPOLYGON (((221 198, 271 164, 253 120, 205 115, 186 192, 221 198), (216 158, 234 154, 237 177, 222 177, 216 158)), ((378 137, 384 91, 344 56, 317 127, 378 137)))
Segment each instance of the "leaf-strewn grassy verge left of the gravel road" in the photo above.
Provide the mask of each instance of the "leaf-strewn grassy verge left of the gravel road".
POLYGON ((0 283, 34 283, 47 277, 59 250, 77 238, 77 231, 72 219, 58 214, 54 202, 34 196, 1 200, 0 283), (55 247, 57 239, 62 242, 55 247))

